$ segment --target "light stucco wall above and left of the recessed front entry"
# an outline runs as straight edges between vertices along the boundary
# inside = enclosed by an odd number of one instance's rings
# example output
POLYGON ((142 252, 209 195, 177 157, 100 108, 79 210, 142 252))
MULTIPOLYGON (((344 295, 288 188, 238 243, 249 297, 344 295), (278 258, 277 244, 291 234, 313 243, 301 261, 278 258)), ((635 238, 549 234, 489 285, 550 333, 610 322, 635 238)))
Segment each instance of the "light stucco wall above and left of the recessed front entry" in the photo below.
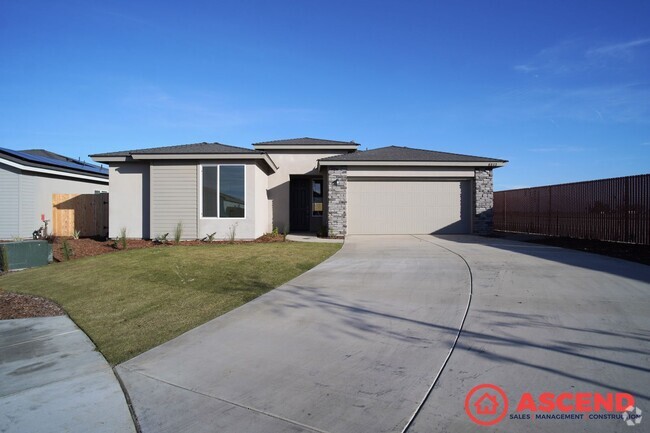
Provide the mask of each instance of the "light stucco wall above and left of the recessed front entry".
MULTIPOLYGON (((341 155, 347 151, 266 150, 278 166, 269 176, 269 205, 271 226, 284 230, 289 227, 289 180, 291 175, 320 175, 318 160, 341 155)), ((323 218, 324 219, 324 218, 323 218)))

